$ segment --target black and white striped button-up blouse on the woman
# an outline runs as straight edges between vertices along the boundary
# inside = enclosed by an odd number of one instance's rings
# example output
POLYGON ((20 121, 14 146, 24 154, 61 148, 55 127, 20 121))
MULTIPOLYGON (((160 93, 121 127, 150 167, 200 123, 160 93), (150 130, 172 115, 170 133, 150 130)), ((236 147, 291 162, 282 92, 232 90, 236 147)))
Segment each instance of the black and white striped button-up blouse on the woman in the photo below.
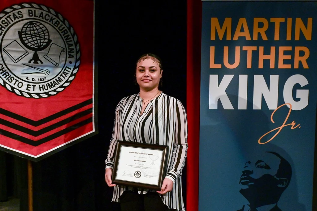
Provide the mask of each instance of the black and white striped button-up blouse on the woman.
MULTIPOLYGON (((163 92, 146 106, 141 114, 139 94, 123 98, 116 107, 113 135, 108 150, 106 168, 113 168, 117 140, 168 145, 167 174, 173 181, 173 189, 160 195, 169 208, 184 211, 182 196, 182 170, 187 155, 187 115, 182 103, 163 92)), ((126 190, 145 194, 152 190, 116 185, 113 202, 126 190)))

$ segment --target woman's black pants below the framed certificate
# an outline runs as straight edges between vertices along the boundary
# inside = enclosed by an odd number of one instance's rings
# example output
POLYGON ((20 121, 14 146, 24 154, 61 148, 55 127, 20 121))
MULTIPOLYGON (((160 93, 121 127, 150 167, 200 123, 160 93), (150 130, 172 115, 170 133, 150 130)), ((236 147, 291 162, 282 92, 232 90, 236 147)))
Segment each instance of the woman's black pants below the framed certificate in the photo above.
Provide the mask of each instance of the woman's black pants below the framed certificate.
POLYGON ((119 197, 121 211, 168 211, 158 193, 150 192, 138 194, 133 191, 124 191, 119 197))

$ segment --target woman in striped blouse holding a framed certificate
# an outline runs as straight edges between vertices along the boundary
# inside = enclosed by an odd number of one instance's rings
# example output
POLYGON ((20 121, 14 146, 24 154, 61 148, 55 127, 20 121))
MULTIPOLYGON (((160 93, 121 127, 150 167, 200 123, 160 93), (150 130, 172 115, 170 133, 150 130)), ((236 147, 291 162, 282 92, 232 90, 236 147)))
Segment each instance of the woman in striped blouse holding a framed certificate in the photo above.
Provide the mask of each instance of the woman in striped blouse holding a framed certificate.
POLYGON ((106 160, 105 179, 114 187, 113 202, 121 210, 184 211, 181 174, 187 155, 187 115, 182 103, 159 90, 161 59, 144 54, 136 64, 140 92, 123 98, 116 107, 113 135, 106 160), (167 174, 160 191, 112 184, 117 140, 168 145, 167 174))

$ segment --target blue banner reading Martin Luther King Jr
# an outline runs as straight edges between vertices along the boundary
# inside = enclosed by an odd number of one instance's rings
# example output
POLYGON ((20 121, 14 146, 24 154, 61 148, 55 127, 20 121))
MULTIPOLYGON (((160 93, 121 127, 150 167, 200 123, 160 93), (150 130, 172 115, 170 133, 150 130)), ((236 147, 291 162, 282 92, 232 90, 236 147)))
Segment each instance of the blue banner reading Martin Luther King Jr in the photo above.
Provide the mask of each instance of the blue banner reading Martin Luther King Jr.
POLYGON ((311 211, 317 4, 203 2, 199 211, 311 211))

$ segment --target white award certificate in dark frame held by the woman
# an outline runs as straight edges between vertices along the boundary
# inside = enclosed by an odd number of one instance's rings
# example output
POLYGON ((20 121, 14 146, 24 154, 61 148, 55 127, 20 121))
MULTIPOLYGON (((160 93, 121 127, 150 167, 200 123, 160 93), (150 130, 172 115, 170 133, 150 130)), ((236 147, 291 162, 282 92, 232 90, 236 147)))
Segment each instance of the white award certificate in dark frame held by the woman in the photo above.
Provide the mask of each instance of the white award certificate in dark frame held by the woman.
POLYGON ((160 190, 168 146, 118 141, 112 183, 160 190))

